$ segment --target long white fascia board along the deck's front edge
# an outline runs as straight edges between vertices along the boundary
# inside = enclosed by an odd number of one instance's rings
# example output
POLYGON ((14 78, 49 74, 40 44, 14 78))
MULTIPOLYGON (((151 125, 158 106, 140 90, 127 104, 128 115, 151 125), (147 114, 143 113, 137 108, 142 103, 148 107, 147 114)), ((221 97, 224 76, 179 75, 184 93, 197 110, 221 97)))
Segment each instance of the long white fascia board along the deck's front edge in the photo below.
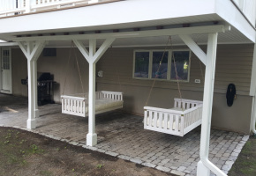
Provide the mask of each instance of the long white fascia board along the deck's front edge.
MULTIPOLYGON (((28 33, 55 29, 112 26, 167 18, 213 14, 213 0, 125 0, 63 11, 0 19, 0 33, 28 33)), ((152 22, 152 26, 154 26, 152 22)))

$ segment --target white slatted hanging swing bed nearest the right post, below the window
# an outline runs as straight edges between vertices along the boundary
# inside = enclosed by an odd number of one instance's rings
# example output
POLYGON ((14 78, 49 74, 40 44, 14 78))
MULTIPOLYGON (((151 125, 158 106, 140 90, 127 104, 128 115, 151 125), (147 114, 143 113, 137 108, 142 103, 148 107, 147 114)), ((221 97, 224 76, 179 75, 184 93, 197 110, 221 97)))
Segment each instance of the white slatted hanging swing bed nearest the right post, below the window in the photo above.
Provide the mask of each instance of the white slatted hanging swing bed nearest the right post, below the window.
POLYGON ((192 99, 174 99, 171 109, 144 106, 144 128, 184 136, 201 124, 202 107, 202 101, 192 99))

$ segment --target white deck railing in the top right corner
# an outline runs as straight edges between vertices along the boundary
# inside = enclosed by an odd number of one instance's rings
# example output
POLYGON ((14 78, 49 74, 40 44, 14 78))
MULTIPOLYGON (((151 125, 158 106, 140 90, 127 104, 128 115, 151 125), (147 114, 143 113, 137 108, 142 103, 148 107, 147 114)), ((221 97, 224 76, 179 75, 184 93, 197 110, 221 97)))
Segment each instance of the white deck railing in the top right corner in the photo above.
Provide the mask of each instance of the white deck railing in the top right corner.
POLYGON ((256 22, 256 1, 255 0, 231 0, 237 8, 244 13, 245 18, 255 26, 256 22))

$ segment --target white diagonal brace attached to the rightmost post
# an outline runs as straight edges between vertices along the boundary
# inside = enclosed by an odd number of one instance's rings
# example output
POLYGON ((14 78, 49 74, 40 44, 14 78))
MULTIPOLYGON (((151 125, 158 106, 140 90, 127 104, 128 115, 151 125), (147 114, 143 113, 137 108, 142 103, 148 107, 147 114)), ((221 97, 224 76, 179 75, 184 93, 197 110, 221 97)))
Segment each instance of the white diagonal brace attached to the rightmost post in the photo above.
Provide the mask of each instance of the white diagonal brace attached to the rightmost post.
POLYGON ((192 52, 198 56, 201 62, 206 65, 207 55, 205 52, 192 40, 189 35, 179 35, 179 37, 184 41, 184 43, 192 50, 192 52))

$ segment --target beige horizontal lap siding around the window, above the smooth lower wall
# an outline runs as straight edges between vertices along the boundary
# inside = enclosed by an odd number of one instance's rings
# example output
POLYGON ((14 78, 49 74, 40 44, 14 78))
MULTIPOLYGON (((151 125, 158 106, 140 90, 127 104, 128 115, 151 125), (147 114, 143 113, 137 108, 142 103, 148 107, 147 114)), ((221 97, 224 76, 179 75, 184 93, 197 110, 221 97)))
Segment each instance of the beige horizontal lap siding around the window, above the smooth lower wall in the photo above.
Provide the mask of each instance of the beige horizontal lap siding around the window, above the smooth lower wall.
MULTIPOLYGON (((206 50, 205 46, 202 48, 206 50)), ((104 75, 104 77, 98 77, 97 82, 111 84, 119 84, 120 82, 120 84, 127 85, 151 86, 152 80, 132 78, 134 49, 138 48, 110 48, 97 63, 97 70, 103 70, 104 75)), ((233 83, 237 86, 237 94, 249 95, 253 45, 220 45, 217 50, 215 92, 225 93, 228 84, 233 83)), ((181 89, 202 92, 204 70, 203 63, 192 54, 190 82, 181 82, 181 89), (194 79, 201 79, 201 84, 195 84, 194 79)), ((154 87, 177 90, 177 83, 156 81, 154 87)))

